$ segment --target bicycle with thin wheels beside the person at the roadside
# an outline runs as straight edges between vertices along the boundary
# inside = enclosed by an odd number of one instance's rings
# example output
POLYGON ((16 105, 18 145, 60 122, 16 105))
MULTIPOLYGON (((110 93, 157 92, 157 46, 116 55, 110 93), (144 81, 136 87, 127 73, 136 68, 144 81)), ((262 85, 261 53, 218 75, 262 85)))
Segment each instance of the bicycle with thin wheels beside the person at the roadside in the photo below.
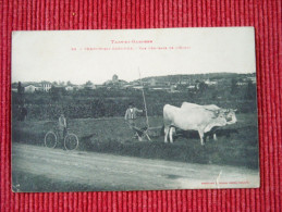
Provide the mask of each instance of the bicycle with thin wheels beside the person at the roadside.
MULTIPOLYGON (((45 135, 45 146, 53 149, 58 145, 59 137, 58 129, 47 132, 45 135)), ((75 150, 79 145, 78 137, 73 133, 69 133, 69 129, 66 129, 63 145, 66 150, 75 150)))

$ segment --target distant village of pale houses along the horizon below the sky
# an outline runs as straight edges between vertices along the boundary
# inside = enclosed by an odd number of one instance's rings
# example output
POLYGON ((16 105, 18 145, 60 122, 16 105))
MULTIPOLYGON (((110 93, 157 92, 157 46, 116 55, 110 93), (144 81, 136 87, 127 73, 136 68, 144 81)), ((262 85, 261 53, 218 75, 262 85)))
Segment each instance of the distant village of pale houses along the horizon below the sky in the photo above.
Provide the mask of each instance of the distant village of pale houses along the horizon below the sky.
MULTIPOLYGON (((111 79, 105 82, 101 85, 95 85, 90 80, 86 82, 83 85, 74 85, 71 82, 16 82, 12 84, 12 91, 19 90, 19 84, 24 89, 26 93, 33 93, 36 91, 49 92, 49 90, 58 89, 65 91, 75 91, 82 89, 149 89, 149 90, 165 90, 168 92, 179 92, 180 90, 196 90, 199 89, 199 85, 205 83, 207 86, 218 86, 220 83, 226 82, 224 77, 188 77, 188 75, 184 75, 186 77, 182 77, 182 75, 172 75, 167 77, 147 77, 144 79, 137 79, 134 82, 126 82, 120 79, 118 75, 113 75, 111 79)), ((229 80, 230 82, 230 80, 229 80)), ((240 77, 236 77, 235 84, 237 86, 245 86, 252 82, 256 84, 256 75, 255 74, 246 74, 240 77)))

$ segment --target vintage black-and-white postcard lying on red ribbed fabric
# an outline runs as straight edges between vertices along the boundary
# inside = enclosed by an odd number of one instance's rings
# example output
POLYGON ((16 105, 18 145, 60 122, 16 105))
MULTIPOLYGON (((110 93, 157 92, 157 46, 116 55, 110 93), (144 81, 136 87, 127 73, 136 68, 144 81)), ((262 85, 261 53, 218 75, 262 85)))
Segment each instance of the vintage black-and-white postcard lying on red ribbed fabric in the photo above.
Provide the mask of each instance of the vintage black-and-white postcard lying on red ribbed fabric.
POLYGON ((259 187, 254 34, 13 32, 12 190, 259 187))

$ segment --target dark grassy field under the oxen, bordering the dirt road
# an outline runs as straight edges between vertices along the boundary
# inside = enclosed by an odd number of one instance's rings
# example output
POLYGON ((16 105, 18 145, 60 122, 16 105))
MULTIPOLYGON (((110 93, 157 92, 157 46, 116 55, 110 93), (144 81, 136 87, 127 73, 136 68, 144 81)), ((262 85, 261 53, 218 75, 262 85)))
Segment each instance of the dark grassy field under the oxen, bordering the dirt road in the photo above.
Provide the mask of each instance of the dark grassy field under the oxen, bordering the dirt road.
MULTIPOLYGON (((151 133, 152 141, 138 141, 122 117, 70 120, 69 127, 79 138, 78 150, 162 159, 203 164, 224 164, 258 169, 258 135, 255 114, 237 114, 238 122, 222 128, 218 140, 200 146, 197 134, 177 137, 174 144, 164 144, 160 130, 151 133), (230 135, 226 132, 233 132, 230 135)), ((150 126, 162 126, 162 117, 149 117, 150 126)), ((13 122, 13 142, 44 146, 45 134, 54 122, 13 122)), ((138 126, 145 126, 140 117, 138 126)), ((62 148, 59 145, 58 148, 62 148)))

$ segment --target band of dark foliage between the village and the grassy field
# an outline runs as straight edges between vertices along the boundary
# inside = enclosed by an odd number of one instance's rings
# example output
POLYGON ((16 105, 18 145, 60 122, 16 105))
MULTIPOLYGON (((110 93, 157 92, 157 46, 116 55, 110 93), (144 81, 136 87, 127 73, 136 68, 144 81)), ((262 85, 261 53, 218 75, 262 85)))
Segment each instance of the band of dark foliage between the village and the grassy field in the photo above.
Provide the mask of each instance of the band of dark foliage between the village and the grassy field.
MULTIPOLYGON (((179 77, 172 77, 171 80, 177 80, 179 77)), ((217 75, 210 77, 217 78, 217 75)), ((247 85, 238 87, 237 82, 242 82, 242 77, 228 74, 226 77, 228 79, 218 80, 217 85, 211 86, 197 77, 198 87, 195 89, 188 89, 185 84, 176 86, 174 91, 145 88, 148 114, 162 115, 164 104, 180 107, 183 101, 236 108, 238 113, 256 111, 256 85, 248 82, 247 85)), ((21 84, 19 87, 22 90, 21 84)), ((144 108, 140 90, 118 87, 66 91, 63 87, 53 86, 49 92, 13 92, 13 116, 20 115, 17 111, 23 101, 28 113, 27 120, 56 120, 61 112, 69 119, 123 116, 130 102, 134 102, 139 109, 144 108)))

